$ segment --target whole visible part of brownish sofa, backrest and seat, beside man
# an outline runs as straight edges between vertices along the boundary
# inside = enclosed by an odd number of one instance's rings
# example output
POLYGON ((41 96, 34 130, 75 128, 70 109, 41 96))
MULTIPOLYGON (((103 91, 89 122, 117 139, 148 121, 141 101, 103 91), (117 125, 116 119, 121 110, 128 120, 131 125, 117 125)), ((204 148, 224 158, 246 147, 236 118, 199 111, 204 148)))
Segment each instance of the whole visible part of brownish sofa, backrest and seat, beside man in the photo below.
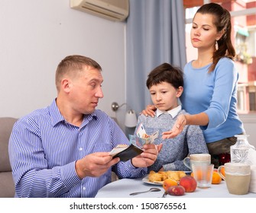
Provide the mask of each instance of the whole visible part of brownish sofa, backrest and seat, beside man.
POLYGON ((15 196, 15 184, 11 175, 8 142, 13 125, 18 119, 0 117, 0 198, 15 196))

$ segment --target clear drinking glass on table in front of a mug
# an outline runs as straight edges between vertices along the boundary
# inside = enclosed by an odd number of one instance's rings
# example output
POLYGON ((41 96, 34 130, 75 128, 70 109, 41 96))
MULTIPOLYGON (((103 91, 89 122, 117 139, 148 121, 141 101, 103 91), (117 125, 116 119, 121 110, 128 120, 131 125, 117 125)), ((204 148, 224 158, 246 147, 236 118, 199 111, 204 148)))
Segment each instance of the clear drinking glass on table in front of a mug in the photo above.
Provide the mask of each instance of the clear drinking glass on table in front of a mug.
POLYGON ((197 187, 209 188, 212 185, 212 172, 214 164, 192 164, 193 177, 197 187))

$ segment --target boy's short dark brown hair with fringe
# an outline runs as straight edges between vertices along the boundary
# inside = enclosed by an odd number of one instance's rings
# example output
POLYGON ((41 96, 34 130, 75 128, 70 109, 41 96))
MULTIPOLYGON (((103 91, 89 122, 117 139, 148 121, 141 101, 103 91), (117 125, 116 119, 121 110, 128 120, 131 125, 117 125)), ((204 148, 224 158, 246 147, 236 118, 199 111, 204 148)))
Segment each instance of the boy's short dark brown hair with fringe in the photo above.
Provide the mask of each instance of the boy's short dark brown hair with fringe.
POLYGON ((173 67, 168 63, 161 64, 154 68, 149 75, 147 75, 147 88, 150 89, 153 85, 167 82, 178 89, 183 87, 183 72, 180 68, 173 67))

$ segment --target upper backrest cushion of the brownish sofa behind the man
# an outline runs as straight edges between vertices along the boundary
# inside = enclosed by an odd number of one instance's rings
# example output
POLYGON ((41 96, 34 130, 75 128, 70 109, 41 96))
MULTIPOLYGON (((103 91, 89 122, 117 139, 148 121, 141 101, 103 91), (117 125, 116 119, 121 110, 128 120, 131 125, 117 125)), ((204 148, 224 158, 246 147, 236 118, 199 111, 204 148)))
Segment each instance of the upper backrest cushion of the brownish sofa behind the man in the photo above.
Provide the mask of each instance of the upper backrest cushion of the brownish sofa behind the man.
POLYGON ((0 118, 0 172, 11 171, 8 154, 8 142, 13 125, 18 119, 11 117, 0 118))

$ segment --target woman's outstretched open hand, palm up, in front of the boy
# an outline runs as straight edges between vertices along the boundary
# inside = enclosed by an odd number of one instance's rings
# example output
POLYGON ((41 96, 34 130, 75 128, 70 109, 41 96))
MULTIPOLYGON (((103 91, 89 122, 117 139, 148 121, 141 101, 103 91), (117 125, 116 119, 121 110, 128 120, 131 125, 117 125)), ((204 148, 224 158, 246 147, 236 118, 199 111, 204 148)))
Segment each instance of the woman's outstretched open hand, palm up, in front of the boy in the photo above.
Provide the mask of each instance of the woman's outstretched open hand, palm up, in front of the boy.
POLYGON ((177 117, 177 121, 173 125, 173 129, 167 132, 163 132, 162 138, 175 138, 177 135, 180 134, 180 132, 183 131, 184 126, 186 125, 186 116, 181 114, 177 117))

